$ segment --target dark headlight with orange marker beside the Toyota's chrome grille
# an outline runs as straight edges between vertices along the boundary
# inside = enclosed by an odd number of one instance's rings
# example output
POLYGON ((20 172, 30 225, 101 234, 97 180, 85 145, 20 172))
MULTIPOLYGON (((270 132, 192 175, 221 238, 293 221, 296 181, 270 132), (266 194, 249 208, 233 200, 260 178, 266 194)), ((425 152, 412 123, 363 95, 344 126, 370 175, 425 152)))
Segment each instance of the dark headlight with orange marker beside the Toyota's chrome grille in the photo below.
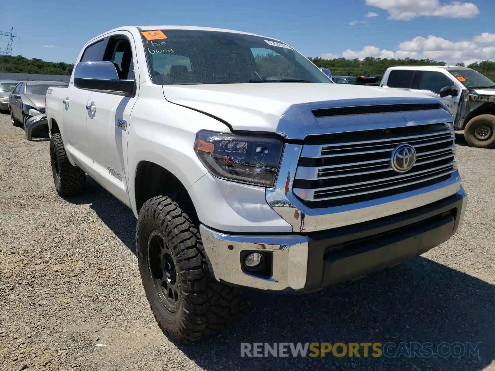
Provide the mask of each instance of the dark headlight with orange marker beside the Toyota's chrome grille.
POLYGON ((272 187, 284 144, 278 139, 198 132, 196 153, 218 178, 272 187))

